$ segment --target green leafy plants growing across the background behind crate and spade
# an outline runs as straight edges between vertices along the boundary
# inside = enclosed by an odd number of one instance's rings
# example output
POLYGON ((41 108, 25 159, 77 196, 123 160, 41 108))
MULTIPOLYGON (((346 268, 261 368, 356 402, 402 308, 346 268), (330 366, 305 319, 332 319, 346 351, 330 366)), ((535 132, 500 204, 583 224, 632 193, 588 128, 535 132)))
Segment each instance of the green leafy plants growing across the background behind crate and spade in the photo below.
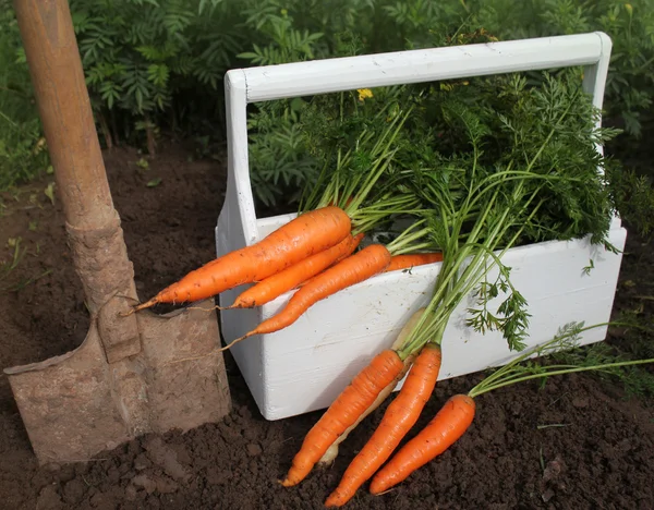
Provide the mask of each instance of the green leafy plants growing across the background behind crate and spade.
MULTIPOLYGON (((208 138, 223 139, 222 77, 231 68, 591 31, 607 32, 614 42, 605 122, 623 134, 608 149, 626 156, 654 130, 654 0, 70 0, 70 5, 107 147, 128 143, 155 153, 158 137, 170 132, 205 146, 208 138)), ((45 168, 47 154, 40 150, 11 2, 0 0, 0 186, 7 187, 45 168)), ((261 204, 295 201, 316 175, 299 126, 302 102, 252 108, 251 163, 261 204)))

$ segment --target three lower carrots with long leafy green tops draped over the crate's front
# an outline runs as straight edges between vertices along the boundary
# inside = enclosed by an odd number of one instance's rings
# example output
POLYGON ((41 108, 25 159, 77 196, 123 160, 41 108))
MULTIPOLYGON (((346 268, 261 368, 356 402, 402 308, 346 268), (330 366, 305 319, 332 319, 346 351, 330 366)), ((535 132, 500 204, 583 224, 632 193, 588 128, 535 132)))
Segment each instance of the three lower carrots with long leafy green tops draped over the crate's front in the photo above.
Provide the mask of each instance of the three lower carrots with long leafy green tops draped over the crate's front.
MULTIPOLYGON (((440 368, 445 329, 453 311, 468 295, 476 293, 480 304, 477 308, 469 309, 469 326, 480 332, 500 330, 511 349, 524 347, 530 317, 526 301, 512 286, 510 268, 502 264, 502 256, 528 231, 554 239, 557 235, 553 232, 564 239, 569 235, 565 226, 578 226, 579 210, 567 212, 567 223, 560 220, 556 226, 560 232, 542 222, 540 211, 553 202, 570 199, 570 190, 582 181, 589 184, 598 180, 596 160, 589 159, 579 165, 560 162, 560 141, 566 139, 570 124, 577 122, 577 106, 584 102, 577 94, 566 97, 566 102, 559 101, 559 96, 554 94, 561 94, 557 87, 558 84, 552 82, 552 90, 541 96, 534 94, 530 99, 541 108, 544 102, 549 106, 547 101, 552 101, 550 114, 537 126, 538 133, 544 133, 537 144, 529 138, 530 145, 525 146, 522 137, 526 129, 518 132, 511 137, 514 145, 510 146, 506 157, 492 165, 482 159, 483 138, 489 132, 483 117, 487 112, 480 111, 480 117, 471 110, 449 112, 452 117, 459 116, 462 127, 469 133, 472 156, 444 158, 446 177, 425 172, 420 180, 407 182, 421 199, 417 207, 421 211, 416 216, 423 215, 423 224, 427 226, 424 231, 413 234, 438 240, 444 253, 432 298, 402 341, 377 354, 308 432, 282 485, 296 485, 322 459, 331 458, 331 446, 342 442, 362 416, 388 397, 388 388, 395 388, 407 371, 404 385, 327 498, 326 506, 344 505, 373 476, 371 491, 379 494, 388 489, 445 451, 470 426, 474 416, 473 398, 481 394, 479 391, 452 397, 427 428, 382 467, 414 426, 429 399, 440 368), (455 181, 459 184, 456 194, 451 187, 455 181), (497 269, 497 277, 488 281, 494 269, 497 269), (494 314, 487 303, 500 294, 506 294, 506 299, 494 314)), ((531 108, 525 100, 517 108, 526 107, 531 108)), ((511 123, 513 119, 507 121, 510 130, 517 131, 518 122, 524 122, 523 113, 517 110, 516 125, 511 123)), ((589 154, 594 154, 594 136, 600 138, 601 134, 591 130, 586 138, 579 138, 582 139, 579 142, 581 148, 589 154)), ((589 210, 594 207, 593 241, 606 244, 608 227, 602 201, 600 193, 589 195, 589 210)))

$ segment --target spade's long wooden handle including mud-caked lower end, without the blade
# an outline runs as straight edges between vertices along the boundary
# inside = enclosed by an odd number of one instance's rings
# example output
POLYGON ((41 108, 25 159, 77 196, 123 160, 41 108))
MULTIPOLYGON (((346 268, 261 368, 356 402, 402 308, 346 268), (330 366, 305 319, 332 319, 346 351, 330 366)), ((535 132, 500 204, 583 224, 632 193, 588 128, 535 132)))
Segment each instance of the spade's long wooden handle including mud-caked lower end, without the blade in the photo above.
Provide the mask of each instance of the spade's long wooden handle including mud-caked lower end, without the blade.
MULTIPOLYGON (((136 289, 107 182, 71 13, 66 0, 14 0, 14 7, 63 203, 69 245, 86 304, 95 314, 117 295, 136 299, 136 289)), ((128 336, 137 341, 135 323, 131 329, 128 336)), ((117 338, 102 338, 106 349, 125 333, 113 336, 117 338)))

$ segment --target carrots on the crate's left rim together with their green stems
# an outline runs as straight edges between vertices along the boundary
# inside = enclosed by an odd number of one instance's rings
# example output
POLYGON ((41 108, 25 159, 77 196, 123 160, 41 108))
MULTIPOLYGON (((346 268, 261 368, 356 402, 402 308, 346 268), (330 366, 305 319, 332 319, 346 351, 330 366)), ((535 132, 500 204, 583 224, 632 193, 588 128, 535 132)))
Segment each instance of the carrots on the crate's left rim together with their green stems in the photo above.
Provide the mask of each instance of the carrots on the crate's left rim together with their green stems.
POLYGON ((374 144, 364 131, 358 144, 373 144, 371 168, 349 171, 353 156, 340 157, 334 175, 343 175, 314 197, 315 208, 301 211, 262 241, 191 271, 134 311, 158 303, 195 302, 243 284, 253 286, 222 309, 252 308, 294 290, 280 312, 233 340, 229 349, 249 337, 290 326, 318 301, 375 275, 440 260, 443 255, 434 251, 434 243, 424 240, 426 229, 415 231, 420 222, 388 245, 360 247, 365 232, 389 218, 414 212, 419 203, 412 193, 391 193, 388 184, 375 186, 391 165, 391 146, 408 116, 397 111, 374 144))

